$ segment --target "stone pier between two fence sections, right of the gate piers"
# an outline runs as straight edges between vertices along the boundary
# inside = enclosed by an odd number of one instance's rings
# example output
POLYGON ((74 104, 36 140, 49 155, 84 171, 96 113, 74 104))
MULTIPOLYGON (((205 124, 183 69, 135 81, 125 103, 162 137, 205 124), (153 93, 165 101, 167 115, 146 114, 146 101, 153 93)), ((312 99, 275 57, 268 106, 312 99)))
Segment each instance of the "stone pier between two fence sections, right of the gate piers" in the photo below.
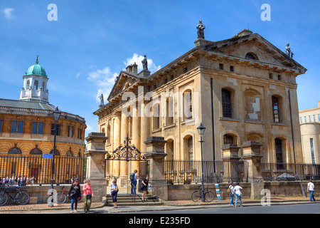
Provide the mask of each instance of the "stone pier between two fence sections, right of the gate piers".
POLYGON ((242 159, 248 165, 248 181, 251 183, 251 199, 261 198, 261 191, 265 188, 263 178, 261 176, 260 154, 261 144, 255 141, 243 142, 242 159))

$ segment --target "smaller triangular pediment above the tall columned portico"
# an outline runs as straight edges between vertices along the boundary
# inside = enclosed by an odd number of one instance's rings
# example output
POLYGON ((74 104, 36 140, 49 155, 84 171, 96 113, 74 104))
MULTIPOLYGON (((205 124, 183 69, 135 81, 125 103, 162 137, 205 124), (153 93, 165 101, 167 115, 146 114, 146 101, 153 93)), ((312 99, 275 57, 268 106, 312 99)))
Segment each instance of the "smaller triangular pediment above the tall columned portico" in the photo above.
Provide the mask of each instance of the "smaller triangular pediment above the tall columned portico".
POLYGON ((132 86, 134 86, 135 84, 137 84, 137 82, 142 80, 143 78, 137 76, 137 74, 121 71, 114 82, 114 86, 107 100, 111 100, 120 93, 129 90, 129 88, 132 88, 132 86))

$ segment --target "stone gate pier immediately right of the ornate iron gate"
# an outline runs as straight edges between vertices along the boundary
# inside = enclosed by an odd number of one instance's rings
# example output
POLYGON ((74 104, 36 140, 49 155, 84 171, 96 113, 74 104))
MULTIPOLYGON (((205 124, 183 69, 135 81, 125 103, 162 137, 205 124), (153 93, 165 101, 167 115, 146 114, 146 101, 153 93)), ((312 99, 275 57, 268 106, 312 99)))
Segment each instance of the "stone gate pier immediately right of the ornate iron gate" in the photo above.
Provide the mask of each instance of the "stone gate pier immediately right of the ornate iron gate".
POLYGON ((146 154, 149 160, 149 177, 152 189, 149 190, 151 195, 156 195, 160 199, 168 199, 168 185, 164 175, 164 145, 166 140, 163 137, 149 137, 144 142, 146 145, 146 154))

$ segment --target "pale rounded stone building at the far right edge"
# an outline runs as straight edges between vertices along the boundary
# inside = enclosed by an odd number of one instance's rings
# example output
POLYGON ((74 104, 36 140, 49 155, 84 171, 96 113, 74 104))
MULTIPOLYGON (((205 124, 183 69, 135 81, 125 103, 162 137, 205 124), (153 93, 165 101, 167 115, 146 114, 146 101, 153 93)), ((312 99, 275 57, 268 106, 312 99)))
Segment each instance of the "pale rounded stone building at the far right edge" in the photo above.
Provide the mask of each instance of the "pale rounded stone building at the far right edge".
POLYGON ((304 163, 320 164, 320 101, 318 107, 299 111, 304 163))

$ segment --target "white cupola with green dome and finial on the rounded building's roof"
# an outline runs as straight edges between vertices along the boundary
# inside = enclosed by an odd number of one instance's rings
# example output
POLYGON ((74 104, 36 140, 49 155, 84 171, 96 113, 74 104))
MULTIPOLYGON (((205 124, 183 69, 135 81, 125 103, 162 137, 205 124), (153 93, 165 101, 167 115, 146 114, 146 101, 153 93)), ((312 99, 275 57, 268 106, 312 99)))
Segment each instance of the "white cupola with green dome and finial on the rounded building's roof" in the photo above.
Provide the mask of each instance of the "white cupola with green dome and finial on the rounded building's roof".
POLYGON ((23 76, 23 87, 20 93, 20 100, 49 103, 48 100, 48 75, 45 69, 38 64, 30 66, 23 76))

